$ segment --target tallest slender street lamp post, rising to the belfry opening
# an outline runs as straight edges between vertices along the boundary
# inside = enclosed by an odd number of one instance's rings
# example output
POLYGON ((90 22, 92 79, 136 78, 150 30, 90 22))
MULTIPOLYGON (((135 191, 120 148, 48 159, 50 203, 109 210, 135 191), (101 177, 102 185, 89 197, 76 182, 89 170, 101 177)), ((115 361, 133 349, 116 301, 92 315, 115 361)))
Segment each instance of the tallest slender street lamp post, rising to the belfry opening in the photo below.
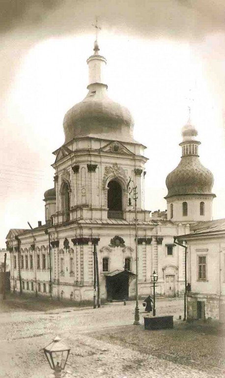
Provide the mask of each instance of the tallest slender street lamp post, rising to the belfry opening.
MULTIPOLYGON (((138 192, 137 186, 133 180, 130 180, 127 184, 127 192, 134 194, 134 201, 135 201, 135 242, 136 242, 136 307, 135 307, 135 321, 134 324, 138 325, 140 323, 140 315, 139 315, 139 303, 138 303, 138 218, 137 218, 137 199, 138 199, 138 192), (131 186, 132 184, 132 186, 131 186)), ((129 197, 129 205, 131 205, 131 198, 129 197)))

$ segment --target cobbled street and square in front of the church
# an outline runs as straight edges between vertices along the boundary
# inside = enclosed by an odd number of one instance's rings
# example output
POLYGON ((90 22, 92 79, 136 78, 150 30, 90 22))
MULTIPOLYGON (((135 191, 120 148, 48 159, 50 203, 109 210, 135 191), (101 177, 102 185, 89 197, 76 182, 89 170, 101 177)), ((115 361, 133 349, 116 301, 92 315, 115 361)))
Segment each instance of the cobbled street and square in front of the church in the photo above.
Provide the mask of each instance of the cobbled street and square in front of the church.
POLYGON ((183 300, 157 301, 174 329, 134 326, 134 302, 100 309, 0 314, 0 377, 53 377, 42 348, 59 335, 71 347, 64 378, 225 377, 225 338, 209 325, 186 324, 183 300))

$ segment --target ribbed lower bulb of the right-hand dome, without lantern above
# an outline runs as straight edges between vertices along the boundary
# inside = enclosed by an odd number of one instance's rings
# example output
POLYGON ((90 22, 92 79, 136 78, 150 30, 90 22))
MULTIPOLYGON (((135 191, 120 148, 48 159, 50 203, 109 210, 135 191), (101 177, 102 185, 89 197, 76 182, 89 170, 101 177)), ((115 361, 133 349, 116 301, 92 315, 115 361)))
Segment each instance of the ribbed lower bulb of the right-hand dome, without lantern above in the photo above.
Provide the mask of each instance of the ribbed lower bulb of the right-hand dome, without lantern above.
POLYGON ((165 198, 179 194, 212 194, 213 182, 212 172, 201 164, 198 156, 184 156, 167 176, 165 198))

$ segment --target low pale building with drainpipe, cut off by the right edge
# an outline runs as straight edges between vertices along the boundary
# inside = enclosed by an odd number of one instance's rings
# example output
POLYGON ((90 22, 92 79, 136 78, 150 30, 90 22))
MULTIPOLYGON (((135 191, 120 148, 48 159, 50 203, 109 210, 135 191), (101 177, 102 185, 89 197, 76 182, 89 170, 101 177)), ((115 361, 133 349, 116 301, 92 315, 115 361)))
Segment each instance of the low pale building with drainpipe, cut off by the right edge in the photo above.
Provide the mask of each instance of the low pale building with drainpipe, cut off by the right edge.
POLYGON ((188 246, 187 318, 225 321, 225 219, 191 225, 178 236, 188 246))

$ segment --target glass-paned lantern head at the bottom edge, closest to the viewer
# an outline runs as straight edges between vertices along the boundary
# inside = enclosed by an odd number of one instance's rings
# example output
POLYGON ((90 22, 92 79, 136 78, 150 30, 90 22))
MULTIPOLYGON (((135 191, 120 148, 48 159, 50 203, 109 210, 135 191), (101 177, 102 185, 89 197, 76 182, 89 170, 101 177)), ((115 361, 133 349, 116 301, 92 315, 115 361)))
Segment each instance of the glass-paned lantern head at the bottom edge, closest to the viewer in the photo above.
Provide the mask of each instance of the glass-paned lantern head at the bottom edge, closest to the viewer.
POLYGON ((65 368, 69 352, 70 348, 58 336, 44 348, 49 365, 55 371, 55 377, 60 377, 60 372, 65 368))

